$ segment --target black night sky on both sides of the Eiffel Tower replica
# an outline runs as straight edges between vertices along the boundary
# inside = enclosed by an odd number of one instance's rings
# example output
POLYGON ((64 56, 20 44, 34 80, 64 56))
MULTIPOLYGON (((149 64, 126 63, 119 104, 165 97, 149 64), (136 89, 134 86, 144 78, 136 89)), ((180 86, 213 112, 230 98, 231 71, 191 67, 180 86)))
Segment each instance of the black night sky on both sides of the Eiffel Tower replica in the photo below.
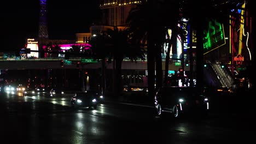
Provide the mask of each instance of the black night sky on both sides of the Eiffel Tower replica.
MULTIPOLYGON (((24 47, 26 38, 37 38, 39 0, 5 1, 1 4, 0 51, 24 47)), ((89 32, 101 17, 98 1, 47 0, 49 39, 75 39, 75 33, 89 32)))

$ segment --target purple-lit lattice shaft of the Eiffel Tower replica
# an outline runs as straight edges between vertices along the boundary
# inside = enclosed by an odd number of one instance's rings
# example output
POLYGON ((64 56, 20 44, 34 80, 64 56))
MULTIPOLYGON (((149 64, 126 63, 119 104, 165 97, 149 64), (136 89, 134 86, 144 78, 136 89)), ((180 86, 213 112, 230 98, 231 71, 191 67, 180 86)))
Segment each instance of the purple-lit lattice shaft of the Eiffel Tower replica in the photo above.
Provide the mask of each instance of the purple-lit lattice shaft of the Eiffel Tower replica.
POLYGON ((46 0, 40 0, 39 31, 38 40, 48 39, 48 26, 46 17, 46 0))

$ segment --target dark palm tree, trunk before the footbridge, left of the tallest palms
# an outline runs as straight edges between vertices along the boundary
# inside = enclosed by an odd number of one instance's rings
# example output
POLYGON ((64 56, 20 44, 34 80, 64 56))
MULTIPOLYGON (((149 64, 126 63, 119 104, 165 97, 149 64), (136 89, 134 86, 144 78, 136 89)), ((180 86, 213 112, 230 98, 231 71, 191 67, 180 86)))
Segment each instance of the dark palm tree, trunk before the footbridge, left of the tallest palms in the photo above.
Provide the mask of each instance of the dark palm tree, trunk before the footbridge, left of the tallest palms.
POLYGON ((121 84, 121 65, 124 58, 127 57, 135 62, 137 59, 144 61, 144 49, 140 45, 133 43, 133 39, 130 39, 129 28, 121 30, 114 26, 113 29, 107 30, 107 34, 110 38, 109 58, 113 59, 113 92, 115 96, 118 96, 123 88, 121 84))

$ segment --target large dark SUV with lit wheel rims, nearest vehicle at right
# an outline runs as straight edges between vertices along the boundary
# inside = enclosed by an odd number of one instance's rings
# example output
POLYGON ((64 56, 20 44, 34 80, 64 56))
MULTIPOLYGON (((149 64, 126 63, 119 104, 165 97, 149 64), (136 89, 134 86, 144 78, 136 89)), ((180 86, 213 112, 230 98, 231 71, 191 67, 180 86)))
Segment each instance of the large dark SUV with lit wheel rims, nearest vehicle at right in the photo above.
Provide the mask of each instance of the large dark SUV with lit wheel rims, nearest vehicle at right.
POLYGON ((194 87, 161 87, 155 94, 155 109, 158 116, 164 112, 171 113, 173 117, 188 113, 205 116, 209 99, 194 87))

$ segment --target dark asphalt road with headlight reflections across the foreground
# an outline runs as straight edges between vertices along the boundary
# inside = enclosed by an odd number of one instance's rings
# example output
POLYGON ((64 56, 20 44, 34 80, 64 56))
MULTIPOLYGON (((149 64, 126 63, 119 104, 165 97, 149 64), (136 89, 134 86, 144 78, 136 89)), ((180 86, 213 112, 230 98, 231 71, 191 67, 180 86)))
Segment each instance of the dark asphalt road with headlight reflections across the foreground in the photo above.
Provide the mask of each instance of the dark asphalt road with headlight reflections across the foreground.
POLYGON ((69 98, 1 94, 1 143, 251 143, 254 113, 155 117, 150 106, 107 101, 72 109, 69 98), (66 103, 65 103, 66 101, 66 103))

